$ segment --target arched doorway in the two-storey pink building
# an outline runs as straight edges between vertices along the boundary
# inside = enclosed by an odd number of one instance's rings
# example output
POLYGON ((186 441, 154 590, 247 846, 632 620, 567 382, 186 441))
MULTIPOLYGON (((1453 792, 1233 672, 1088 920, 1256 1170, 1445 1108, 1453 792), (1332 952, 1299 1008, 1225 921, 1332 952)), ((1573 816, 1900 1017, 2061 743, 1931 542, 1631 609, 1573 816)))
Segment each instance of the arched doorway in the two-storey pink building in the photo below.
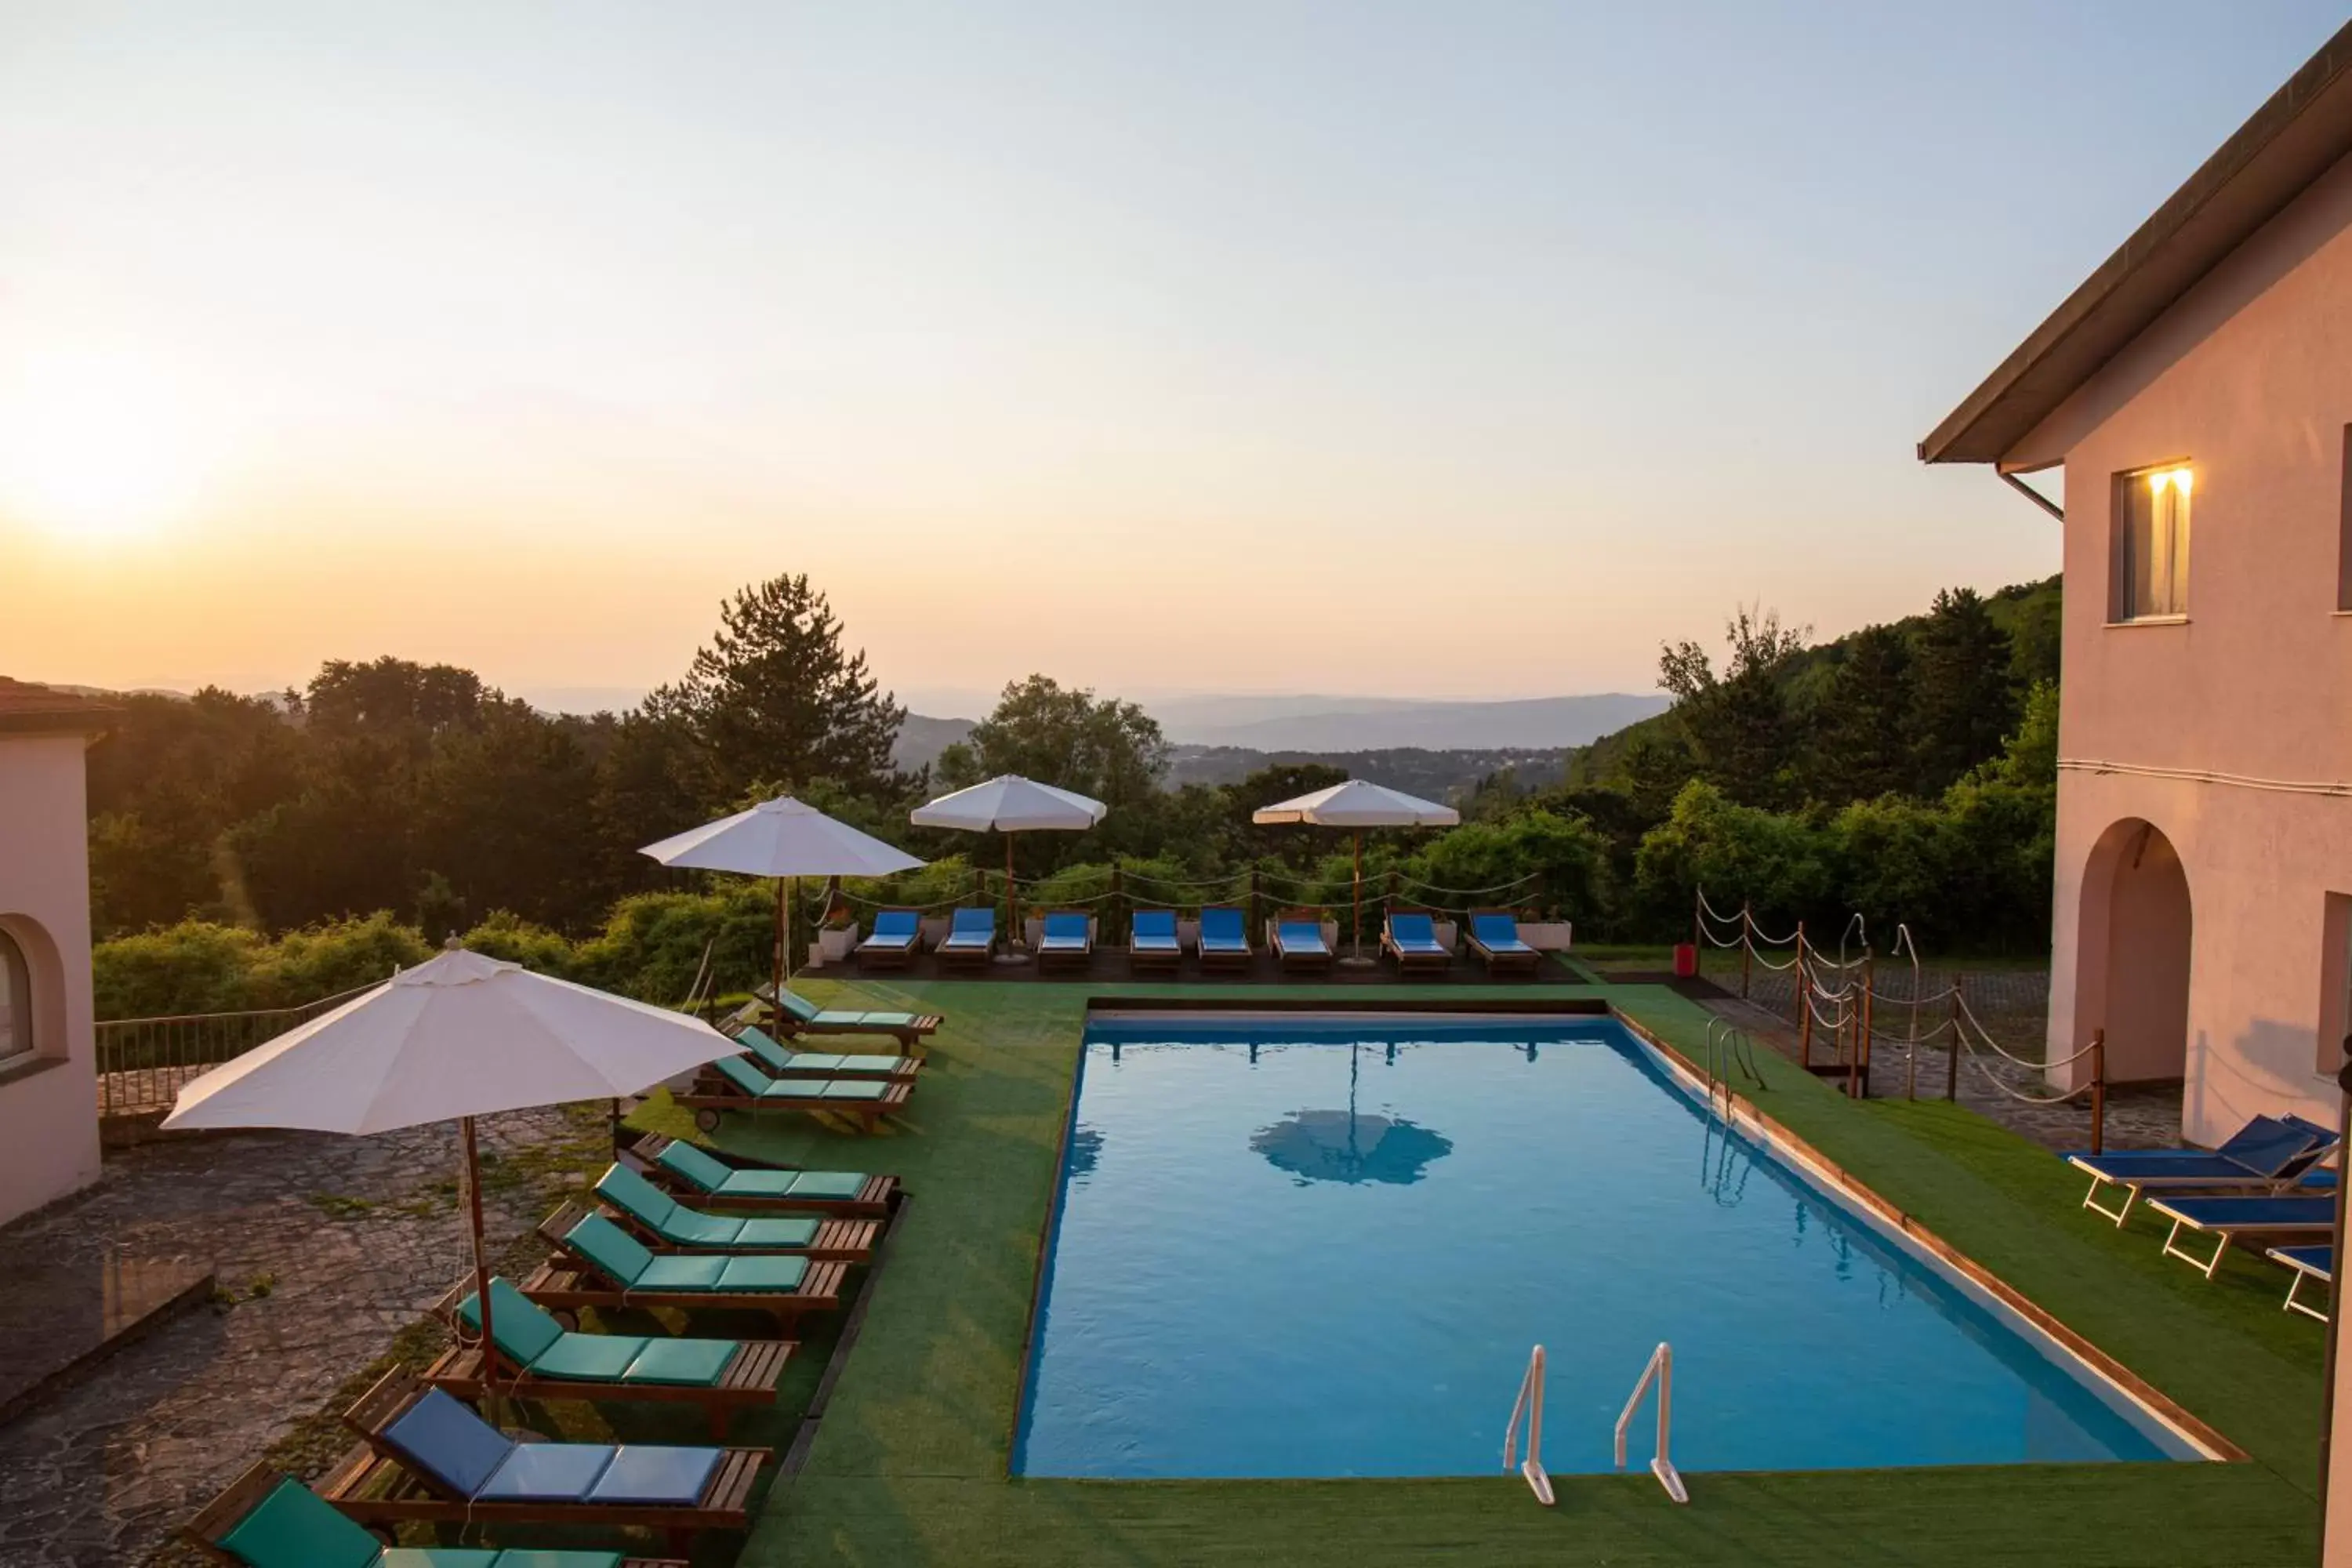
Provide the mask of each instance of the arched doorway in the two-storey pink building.
MULTIPOLYGON (((2180 1079, 2190 1058, 2190 879, 2164 830, 2124 818, 2082 875, 2082 1041, 2107 1030, 2107 1081, 2180 1079)), ((2079 1044, 2077 1041, 2077 1048, 2079 1044)), ((2074 1079, 2079 1081, 2079 1077, 2074 1079)))

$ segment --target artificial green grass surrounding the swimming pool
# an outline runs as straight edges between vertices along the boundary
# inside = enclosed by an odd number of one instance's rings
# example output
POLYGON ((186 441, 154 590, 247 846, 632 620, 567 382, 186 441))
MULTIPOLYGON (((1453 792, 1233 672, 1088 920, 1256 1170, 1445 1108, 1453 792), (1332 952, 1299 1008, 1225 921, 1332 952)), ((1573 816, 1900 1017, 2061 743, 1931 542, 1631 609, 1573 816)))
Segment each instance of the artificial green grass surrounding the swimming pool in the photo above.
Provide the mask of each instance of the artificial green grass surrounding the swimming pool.
MULTIPOLYGON (((1853 1105, 1759 1056, 1755 1100, 2253 1455, 2244 1465, 1698 1474, 1672 1507, 1637 1476, 1555 1476, 1557 1509, 1501 1474, 1437 1481, 1028 1481, 1007 1476, 1030 1300, 1087 997, 1167 987, 811 985, 946 1013, 910 1117, 875 1138, 729 1117, 722 1147, 896 1171, 915 1194, 800 1476, 769 1490, 741 1561, 922 1566, 1345 1563, 1461 1554, 1548 1563, 2307 1563, 2317 1542, 2317 1324, 2284 1276, 2216 1284, 2140 1220, 2084 1213, 2060 1161, 1947 1105, 1853 1105)), ((1312 987, 1204 987, 1272 999, 1312 987)), ((1392 987, 1388 997, 1606 994, 1696 1051, 1708 1013, 1658 987, 1392 987)), ((1364 1006, 1362 990, 1338 997, 1364 1006)), ((661 1103, 647 1124, 684 1131, 661 1103)), ((1214 1309, 1214 1305, 1204 1305, 1214 1309)), ((1738 1312, 1736 1300, 1724 1302, 1738 1312)), ((1870 1345, 1823 1345, 1856 1378, 1870 1345)), ((1628 1380, 1632 1368, 1628 1368, 1628 1380)), ((1510 1389, 1496 1389, 1496 1436, 1510 1389)), ((753 1434, 755 1441, 776 1441, 753 1434)), ((1501 1455, 1498 1455, 1501 1458, 1501 1455)), ((701 1554, 699 1554, 701 1561, 701 1554)))

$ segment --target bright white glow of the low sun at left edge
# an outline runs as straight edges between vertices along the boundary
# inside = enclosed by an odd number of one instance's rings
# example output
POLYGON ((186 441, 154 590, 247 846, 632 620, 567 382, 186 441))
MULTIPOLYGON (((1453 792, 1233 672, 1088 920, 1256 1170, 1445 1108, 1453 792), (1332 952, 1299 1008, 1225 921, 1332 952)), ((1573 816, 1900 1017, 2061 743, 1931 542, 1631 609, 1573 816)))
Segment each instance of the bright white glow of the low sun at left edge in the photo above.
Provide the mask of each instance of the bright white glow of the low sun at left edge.
POLYGON ((0 515, 111 543, 195 505, 205 442, 188 397, 127 355, 28 357, 0 369, 0 515))

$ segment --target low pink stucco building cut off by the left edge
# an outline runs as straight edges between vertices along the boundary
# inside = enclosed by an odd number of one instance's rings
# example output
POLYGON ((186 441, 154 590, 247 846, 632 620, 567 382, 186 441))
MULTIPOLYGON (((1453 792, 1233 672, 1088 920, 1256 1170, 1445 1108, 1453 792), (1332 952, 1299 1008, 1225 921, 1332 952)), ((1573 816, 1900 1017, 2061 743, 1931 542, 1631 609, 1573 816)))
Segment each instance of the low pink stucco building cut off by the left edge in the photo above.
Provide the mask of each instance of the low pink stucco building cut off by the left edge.
POLYGON ((99 1178, 82 752, 111 717, 0 677, 0 1222, 99 1178))

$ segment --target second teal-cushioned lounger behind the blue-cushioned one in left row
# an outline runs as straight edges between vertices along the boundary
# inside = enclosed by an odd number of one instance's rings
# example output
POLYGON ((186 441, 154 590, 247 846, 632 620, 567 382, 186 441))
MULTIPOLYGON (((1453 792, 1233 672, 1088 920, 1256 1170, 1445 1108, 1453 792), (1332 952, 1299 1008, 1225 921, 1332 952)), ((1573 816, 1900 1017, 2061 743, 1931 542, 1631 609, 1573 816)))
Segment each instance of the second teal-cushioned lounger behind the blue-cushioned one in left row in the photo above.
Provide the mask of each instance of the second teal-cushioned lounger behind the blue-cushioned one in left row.
POLYGON ((581 1307, 717 1307, 767 1312, 790 1328, 804 1312, 842 1305, 847 1262, 809 1258, 715 1258, 710 1253, 661 1253, 637 1244, 626 1229, 581 1204, 550 1213, 539 1234, 562 1258, 550 1258, 522 1281, 522 1293, 562 1324, 581 1307), (567 1262, 569 1260, 569 1262, 567 1262))

